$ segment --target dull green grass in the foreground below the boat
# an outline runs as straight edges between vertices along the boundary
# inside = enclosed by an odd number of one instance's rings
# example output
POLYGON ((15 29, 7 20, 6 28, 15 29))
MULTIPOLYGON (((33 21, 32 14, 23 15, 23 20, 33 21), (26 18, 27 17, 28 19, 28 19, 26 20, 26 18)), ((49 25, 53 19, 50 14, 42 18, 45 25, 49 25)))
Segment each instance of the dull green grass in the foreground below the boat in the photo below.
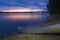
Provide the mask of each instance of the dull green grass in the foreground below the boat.
POLYGON ((3 40, 59 40, 60 35, 45 35, 45 34, 16 34, 5 37, 3 40))

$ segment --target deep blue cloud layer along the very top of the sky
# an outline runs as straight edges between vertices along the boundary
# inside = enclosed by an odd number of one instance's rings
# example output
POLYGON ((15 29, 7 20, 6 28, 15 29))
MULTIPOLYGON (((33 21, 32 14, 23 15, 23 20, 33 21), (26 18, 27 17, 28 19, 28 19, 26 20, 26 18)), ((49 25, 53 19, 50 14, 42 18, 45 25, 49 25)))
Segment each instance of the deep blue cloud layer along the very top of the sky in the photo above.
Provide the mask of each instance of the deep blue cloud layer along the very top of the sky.
POLYGON ((0 0, 0 6, 21 6, 21 5, 38 5, 38 3, 44 2, 45 0, 0 0))

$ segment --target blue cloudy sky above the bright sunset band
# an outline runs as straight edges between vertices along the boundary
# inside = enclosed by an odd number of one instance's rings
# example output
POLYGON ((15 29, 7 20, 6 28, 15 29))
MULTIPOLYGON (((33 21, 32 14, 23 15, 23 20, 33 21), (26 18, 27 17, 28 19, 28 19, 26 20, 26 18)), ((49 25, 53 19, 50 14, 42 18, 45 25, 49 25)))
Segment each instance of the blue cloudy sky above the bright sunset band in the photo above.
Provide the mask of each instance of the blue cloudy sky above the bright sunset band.
POLYGON ((0 10, 9 8, 40 8, 48 0, 0 0, 0 10))

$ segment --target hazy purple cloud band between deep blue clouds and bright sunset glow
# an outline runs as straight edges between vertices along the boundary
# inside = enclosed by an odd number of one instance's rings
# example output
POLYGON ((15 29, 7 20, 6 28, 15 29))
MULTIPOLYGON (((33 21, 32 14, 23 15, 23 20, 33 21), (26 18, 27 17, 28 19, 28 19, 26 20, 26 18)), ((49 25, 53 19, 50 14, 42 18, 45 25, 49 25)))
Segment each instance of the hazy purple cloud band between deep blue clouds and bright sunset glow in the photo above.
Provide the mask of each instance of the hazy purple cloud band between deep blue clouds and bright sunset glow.
POLYGON ((0 11, 5 10, 5 9, 23 9, 23 8, 28 8, 28 9, 38 9, 38 6, 0 6, 0 11))

